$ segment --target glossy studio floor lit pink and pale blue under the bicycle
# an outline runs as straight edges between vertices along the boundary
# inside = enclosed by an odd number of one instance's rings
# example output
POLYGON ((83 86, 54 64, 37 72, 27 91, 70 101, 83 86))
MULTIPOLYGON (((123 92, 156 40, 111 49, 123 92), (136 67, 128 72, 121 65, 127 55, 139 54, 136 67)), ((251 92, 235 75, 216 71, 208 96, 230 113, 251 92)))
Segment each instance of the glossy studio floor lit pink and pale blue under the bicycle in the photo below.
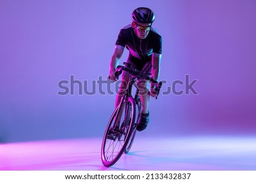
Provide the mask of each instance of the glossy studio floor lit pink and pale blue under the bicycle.
POLYGON ((0 143, 0 170, 256 170, 256 137, 135 138, 112 167, 101 163, 101 138, 0 143))

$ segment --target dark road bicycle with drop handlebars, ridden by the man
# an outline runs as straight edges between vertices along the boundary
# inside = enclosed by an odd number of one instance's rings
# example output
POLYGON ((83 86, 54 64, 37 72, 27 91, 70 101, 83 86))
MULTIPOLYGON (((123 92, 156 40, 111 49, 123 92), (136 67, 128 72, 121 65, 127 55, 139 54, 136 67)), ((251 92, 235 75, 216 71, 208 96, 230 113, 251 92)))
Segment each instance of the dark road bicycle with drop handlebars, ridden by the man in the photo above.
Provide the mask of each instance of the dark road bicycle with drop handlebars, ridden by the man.
MULTIPOLYGON (((129 82, 125 94, 117 108, 115 108, 108 125, 106 127, 102 146, 101 146, 101 160, 104 166, 113 166, 123 153, 127 154, 133 145, 136 135, 136 127, 141 115, 142 104, 139 99, 139 88, 137 81, 147 80, 154 83, 154 89, 159 94, 162 82, 157 82, 148 76, 152 65, 144 65, 142 71, 138 71, 131 67, 131 64, 124 62, 125 66, 117 66, 115 77, 119 77, 122 71, 130 73, 129 82), (136 88, 135 95, 133 88, 136 88)), ((150 93, 148 93, 150 94, 150 93)), ((157 96, 156 96, 157 99, 157 96)))

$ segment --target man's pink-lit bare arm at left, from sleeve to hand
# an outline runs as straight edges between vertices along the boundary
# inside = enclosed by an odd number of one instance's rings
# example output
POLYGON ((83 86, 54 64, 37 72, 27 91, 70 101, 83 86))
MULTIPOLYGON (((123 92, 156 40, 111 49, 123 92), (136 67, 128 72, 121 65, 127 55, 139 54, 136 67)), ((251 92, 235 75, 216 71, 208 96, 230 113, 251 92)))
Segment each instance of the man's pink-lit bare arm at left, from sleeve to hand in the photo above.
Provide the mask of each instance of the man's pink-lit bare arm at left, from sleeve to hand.
POLYGON ((124 49, 123 46, 116 45, 115 50, 114 50, 114 54, 111 57, 110 65, 109 65, 109 75, 110 75, 110 79, 112 81, 117 81, 117 78, 115 78, 114 73, 115 73, 115 69, 119 65, 119 59, 122 57, 123 49, 124 49))

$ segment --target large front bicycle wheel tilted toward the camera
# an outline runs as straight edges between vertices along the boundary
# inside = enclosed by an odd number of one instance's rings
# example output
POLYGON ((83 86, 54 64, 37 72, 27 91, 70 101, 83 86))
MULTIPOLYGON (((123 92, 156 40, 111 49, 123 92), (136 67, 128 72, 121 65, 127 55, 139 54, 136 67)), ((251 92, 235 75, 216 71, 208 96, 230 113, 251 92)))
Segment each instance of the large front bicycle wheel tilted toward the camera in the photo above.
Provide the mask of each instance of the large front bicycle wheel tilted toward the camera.
POLYGON ((104 166, 115 164, 126 149, 135 120, 135 103, 131 96, 119 105, 110 117, 101 146, 101 160, 104 166))

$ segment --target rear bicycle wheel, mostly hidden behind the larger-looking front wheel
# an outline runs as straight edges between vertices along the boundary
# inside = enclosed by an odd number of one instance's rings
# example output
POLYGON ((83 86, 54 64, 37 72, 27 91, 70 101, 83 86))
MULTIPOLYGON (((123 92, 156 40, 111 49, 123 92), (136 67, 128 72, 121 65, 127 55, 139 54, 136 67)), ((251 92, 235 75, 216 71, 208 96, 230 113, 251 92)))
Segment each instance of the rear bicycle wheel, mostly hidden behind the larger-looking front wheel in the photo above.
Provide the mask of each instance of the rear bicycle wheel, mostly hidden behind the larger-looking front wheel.
POLYGON ((138 103, 136 104, 136 109, 135 109, 135 120, 134 120, 134 124, 133 126, 130 126, 130 127, 133 127, 133 131, 131 132, 131 137, 129 138, 129 141, 125 147, 125 154, 129 153, 130 149, 131 149, 131 146, 133 145, 133 142, 134 142, 134 138, 136 136, 136 133, 137 133, 137 124, 138 124, 138 121, 139 121, 139 115, 141 115, 141 108, 142 108, 142 105, 141 105, 141 101, 138 100, 138 103))

